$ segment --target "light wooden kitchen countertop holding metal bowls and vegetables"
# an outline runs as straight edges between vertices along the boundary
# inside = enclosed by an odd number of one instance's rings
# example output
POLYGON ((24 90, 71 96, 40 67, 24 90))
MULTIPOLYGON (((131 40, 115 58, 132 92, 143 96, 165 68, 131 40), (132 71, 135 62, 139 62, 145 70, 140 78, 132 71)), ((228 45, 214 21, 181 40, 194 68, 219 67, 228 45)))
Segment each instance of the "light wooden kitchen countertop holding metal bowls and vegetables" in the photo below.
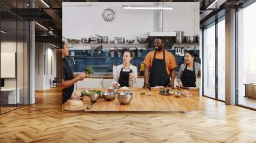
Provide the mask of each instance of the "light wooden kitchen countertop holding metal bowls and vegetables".
MULTIPOLYGON (((71 100, 79 100, 79 95, 81 91, 88 88, 81 88, 77 90, 71 100)), ((92 89, 92 88, 90 88, 92 89)), ((107 89, 100 89, 102 91, 107 91, 107 89)), ((164 96, 159 94, 159 89, 152 89, 154 95, 140 95, 141 92, 149 92, 148 89, 131 89, 133 92, 132 101, 127 105, 121 105, 118 99, 112 101, 106 101, 104 98, 99 98, 92 106, 92 109, 86 109, 90 104, 90 98, 84 97, 82 100, 84 102, 83 107, 68 109, 67 103, 63 104, 63 111, 84 111, 84 112, 126 112, 126 111, 179 111, 185 112, 189 110, 199 110, 199 91, 198 89, 185 89, 189 93, 193 94, 192 97, 180 96, 179 98, 173 95, 164 96)), ((183 91, 184 89, 173 89, 172 91, 183 91)))

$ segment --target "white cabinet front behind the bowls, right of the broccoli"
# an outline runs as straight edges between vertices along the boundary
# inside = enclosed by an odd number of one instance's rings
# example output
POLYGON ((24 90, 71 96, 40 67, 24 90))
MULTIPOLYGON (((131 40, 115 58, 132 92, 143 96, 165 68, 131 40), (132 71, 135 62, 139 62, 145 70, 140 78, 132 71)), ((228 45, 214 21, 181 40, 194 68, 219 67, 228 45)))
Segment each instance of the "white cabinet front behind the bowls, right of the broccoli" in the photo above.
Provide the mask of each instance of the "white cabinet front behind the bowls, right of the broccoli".
POLYGON ((102 88, 103 87, 103 79, 91 79, 91 78, 86 78, 84 80, 78 81, 76 83, 76 88, 102 88))

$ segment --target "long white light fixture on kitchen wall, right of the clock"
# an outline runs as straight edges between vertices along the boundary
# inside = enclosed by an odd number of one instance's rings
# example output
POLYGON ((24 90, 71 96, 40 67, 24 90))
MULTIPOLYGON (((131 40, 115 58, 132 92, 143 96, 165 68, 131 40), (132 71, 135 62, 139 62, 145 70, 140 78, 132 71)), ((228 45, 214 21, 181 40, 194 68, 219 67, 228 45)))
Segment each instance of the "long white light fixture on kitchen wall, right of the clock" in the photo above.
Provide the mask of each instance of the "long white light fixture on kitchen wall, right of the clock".
POLYGON ((173 10, 172 6, 139 6, 139 5, 123 5, 123 9, 130 10, 173 10))

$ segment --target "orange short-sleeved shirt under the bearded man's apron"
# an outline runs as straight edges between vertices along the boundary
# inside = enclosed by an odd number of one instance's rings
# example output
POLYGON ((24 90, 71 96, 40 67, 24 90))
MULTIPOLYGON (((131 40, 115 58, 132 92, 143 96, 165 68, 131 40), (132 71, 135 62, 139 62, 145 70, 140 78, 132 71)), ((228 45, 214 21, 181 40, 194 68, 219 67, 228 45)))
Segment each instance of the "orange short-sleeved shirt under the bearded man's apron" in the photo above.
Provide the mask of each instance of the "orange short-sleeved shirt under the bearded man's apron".
MULTIPOLYGON (((155 51, 150 51, 148 52, 147 56, 145 57, 143 63, 148 67, 151 68, 152 66, 152 62, 153 62, 153 58, 154 58, 154 52, 155 51)), ((163 58, 163 51, 162 52, 156 52, 156 59, 164 59, 163 58)), ((177 67, 177 63, 175 60, 175 57, 173 56, 173 54, 171 52, 168 52, 165 50, 165 64, 166 64, 166 71, 168 73, 169 76, 170 75, 170 70, 172 70, 173 68, 177 67)))

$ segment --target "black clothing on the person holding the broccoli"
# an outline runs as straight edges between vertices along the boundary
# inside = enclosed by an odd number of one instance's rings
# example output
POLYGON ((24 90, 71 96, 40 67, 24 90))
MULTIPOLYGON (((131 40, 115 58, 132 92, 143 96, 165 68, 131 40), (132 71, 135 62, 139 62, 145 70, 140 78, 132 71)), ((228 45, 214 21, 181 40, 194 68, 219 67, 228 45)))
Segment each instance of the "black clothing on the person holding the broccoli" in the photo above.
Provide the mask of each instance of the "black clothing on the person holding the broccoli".
MULTIPOLYGON (((62 79, 64 80, 72 80, 74 79, 73 72, 71 70, 71 67, 67 63, 66 59, 62 59, 62 79)), ((67 87, 65 89, 62 89, 62 103, 67 102, 67 100, 72 96, 72 93, 74 91, 74 85, 67 87)))

